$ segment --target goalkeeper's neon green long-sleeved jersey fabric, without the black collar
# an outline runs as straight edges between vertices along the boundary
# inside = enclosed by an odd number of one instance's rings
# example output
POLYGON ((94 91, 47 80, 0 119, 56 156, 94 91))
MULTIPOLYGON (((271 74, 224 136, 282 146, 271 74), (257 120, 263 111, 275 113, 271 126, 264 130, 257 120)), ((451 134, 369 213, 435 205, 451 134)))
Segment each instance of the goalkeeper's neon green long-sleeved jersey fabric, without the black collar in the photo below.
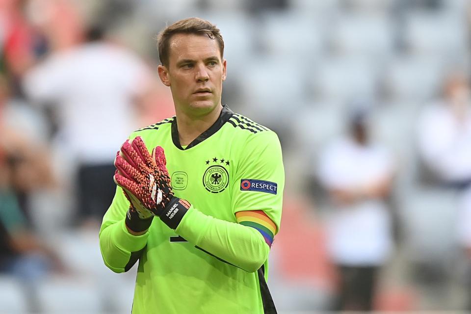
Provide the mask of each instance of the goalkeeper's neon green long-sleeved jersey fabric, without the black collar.
POLYGON ((155 218, 146 234, 123 235, 129 202, 117 188, 103 219, 100 247, 105 264, 117 272, 131 252, 144 248, 132 313, 263 313, 254 271, 264 264, 267 277, 269 247, 257 230, 237 224, 235 213, 263 210, 279 230, 285 181, 281 146, 273 131, 234 117, 186 149, 172 140, 174 118, 131 134, 131 139, 141 136, 149 151, 163 147, 175 196, 192 205, 176 231, 155 218), (242 179, 276 183, 277 193, 241 190, 242 179))

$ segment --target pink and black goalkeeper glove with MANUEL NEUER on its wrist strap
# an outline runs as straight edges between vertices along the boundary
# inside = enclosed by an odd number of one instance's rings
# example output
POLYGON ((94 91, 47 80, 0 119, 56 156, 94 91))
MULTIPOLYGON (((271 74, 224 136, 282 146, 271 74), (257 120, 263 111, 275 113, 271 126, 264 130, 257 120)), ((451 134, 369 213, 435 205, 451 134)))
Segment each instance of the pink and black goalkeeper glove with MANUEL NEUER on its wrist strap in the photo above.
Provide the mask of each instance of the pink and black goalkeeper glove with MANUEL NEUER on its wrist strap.
MULTIPOLYGON (((139 218, 152 217, 152 213, 175 229, 189 204, 173 196, 163 148, 157 146, 151 156, 144 141, 138 136, 131 142, 124 142, 114 164, 117 169, 114 181, 123 188, 139 218)), ((128 220, 132 220, 130 215, 132 217, 132 208, 131 213, 128 212, 128 220)), ((128 227, 131 226, 128 224, 128 227)))

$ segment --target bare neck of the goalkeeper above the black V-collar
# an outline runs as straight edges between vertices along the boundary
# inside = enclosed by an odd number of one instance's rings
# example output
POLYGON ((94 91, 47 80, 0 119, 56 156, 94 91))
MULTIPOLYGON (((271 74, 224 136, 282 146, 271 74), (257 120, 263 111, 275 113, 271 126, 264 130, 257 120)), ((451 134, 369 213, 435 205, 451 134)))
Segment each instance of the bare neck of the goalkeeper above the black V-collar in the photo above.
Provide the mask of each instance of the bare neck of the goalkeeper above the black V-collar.
POLYGON ((177 112, 178 137, 180 145, 190 144, 201 133, 208 130, 221 114, 222 105, 217 106, 207 115, 192 117, 183 112, 177 112))

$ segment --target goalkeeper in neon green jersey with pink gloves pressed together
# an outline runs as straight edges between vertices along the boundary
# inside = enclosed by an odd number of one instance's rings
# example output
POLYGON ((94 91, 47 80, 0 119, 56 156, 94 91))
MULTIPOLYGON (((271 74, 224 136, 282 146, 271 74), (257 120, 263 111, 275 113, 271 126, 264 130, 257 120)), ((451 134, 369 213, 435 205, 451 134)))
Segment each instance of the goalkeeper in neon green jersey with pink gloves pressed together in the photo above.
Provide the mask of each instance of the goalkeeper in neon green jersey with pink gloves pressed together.
POLYGON ((277 135, 221 105, 224 42, 189 18, 157 38, 176 116, 135 131, 115 159, 103 260, 139 261, 132 313, 276 313, 267 260, 280 227, 277 135))

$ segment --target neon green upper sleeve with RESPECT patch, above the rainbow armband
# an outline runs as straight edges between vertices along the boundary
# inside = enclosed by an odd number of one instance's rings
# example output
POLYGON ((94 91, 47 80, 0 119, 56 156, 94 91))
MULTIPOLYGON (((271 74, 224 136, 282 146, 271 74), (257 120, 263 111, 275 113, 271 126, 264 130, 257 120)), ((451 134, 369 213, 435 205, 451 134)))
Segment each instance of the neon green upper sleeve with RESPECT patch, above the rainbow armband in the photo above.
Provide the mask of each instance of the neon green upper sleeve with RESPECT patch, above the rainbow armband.
POLYGON ((280 141, 273 131, 250 136, 237 165, 233 183, 234 214, 262 210, 280 228, 285 170, 280 141))

